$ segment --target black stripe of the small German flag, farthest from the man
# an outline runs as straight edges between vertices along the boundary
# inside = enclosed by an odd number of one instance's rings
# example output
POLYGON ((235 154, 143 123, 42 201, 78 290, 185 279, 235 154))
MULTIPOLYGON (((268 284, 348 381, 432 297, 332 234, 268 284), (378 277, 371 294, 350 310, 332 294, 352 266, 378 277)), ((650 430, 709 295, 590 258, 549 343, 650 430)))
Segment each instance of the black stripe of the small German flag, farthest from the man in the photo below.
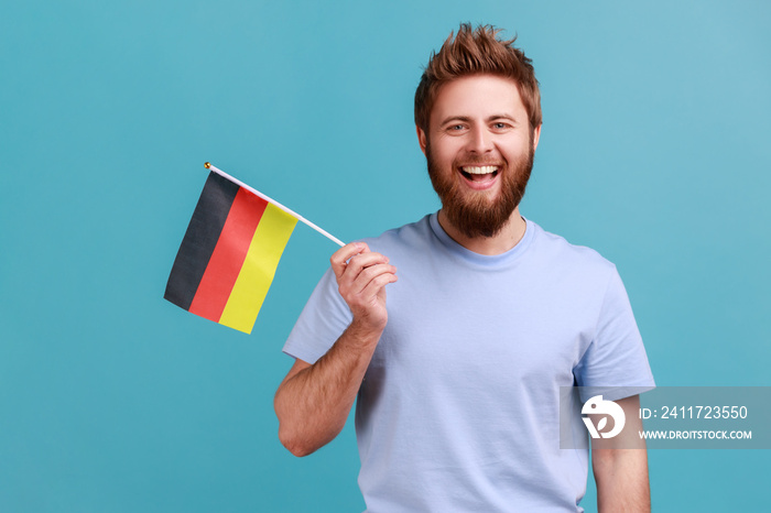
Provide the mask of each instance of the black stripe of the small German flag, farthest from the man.
POLYGON ((240 187, 209 172, 166 283, 165 299, 189 309, 240 187))

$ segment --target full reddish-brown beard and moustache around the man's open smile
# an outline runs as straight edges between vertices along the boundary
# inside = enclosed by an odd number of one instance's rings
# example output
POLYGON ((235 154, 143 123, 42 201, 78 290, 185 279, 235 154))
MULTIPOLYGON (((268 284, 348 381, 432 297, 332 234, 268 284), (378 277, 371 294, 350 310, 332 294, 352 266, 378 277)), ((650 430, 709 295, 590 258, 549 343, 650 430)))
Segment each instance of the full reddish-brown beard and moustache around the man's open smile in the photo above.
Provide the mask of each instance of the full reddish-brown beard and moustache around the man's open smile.
MULTIPOLYGON (((495 237, 503 229, 514 208, 524 196, 524 189, 533 168, 534 150, 531 141, 529 152, 517 162, 499 166, 499 179, 502 181, 500 194, 495 198, 488 198, 485 190, 471 190, 465 187, 455 176, 457 164, 453 162, 453 168, 441 170, 432 152, 431 144, 426 142, 425 154, 428 163, 428 176, 434 190, 442 201, 442 211, 447 220, 463 234, 469 238, 495 237)), ((486 165, 484 159, 464 160, 466 165, 486 165)))

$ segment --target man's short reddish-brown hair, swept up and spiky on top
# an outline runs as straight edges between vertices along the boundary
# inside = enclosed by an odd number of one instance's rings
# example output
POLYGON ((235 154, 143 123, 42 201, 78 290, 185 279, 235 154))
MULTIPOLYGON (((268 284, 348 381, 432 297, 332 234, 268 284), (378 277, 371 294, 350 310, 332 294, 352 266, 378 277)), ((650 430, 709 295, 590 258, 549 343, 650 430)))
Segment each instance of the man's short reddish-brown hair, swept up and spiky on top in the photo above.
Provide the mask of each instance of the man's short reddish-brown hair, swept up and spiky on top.
POLYGON ((528 111, 530 128, 541 124, 541 91, 531 61, 513 45, 517 37, 502 41, 496 37, 500 29, 461 23, 458 33, 444 42, 439 53, 432 52, 415 91, 415 124, 428 132, 431 109, 445 84, 470 75, 496 75, 517 83, 528 111))

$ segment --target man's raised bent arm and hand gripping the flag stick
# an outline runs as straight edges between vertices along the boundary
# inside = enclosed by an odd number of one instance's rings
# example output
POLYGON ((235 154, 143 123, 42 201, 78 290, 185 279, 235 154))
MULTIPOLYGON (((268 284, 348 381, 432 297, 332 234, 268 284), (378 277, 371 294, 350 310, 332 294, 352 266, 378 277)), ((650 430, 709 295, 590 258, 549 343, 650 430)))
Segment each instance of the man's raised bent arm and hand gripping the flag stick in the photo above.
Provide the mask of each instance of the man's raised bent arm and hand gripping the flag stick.
POLYGON ((316 363, 296 360, 279 385, 279 439, 295 456, 314 452, 343 430, 388 323, 384 287, 397 281, 397 269, 362 242, 340 248, 330 263, 354 320, 316 363))

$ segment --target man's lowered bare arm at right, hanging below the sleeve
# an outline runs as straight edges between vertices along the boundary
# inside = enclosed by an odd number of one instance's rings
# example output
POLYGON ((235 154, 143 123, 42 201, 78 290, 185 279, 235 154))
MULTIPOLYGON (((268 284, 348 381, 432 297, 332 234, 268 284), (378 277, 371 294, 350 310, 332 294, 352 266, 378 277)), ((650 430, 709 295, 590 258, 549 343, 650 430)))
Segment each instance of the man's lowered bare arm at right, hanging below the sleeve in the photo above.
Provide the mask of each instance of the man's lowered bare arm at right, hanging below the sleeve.
POLYGON ((619 401, 626 415, 623 432, 615 438, 591 440, 591 467, 597 482, 597 507, 601 512, 651 511, 648 452, 641 439, 640 396, 619 401), (623 447, 623 448, 619 448, 623 447))

